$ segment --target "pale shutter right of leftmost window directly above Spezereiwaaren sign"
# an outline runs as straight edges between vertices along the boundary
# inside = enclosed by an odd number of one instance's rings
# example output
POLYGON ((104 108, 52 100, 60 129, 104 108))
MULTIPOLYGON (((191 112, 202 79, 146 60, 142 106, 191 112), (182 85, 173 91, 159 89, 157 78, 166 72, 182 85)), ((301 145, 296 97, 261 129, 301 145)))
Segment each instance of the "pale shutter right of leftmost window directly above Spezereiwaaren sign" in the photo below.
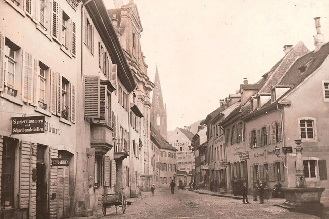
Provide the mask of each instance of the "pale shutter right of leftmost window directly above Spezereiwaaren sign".
POLYGON ((27 52, 23 53, 24 62, 24 89, 23 89, 23 101, 32 103, 33 101, 33 56, 27 52))

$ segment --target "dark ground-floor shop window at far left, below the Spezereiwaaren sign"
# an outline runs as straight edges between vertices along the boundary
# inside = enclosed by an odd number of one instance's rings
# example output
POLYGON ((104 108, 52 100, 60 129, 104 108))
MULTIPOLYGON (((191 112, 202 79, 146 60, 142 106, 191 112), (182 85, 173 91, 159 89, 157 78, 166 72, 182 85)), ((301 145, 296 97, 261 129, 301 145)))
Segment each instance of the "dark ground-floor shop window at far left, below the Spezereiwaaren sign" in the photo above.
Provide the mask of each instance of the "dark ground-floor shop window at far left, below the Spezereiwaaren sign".
POLYGON ((1 167, 1 208, 15 207, 15 166, 17 140, 4 137, 1 167))

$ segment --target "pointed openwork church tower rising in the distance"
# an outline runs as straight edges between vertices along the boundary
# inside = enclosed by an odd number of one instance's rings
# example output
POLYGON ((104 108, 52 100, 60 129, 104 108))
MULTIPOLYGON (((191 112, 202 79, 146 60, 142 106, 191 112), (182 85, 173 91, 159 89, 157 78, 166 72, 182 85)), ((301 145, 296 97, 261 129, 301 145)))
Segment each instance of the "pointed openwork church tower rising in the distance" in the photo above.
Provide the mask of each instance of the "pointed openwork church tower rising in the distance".
POLYGON ((167 113, 166 106, 163 104, 158 66, 156 66, 154 85, 155 87, 153 89, 151 107, 151 123, 155 129, 167 139, 167 113))

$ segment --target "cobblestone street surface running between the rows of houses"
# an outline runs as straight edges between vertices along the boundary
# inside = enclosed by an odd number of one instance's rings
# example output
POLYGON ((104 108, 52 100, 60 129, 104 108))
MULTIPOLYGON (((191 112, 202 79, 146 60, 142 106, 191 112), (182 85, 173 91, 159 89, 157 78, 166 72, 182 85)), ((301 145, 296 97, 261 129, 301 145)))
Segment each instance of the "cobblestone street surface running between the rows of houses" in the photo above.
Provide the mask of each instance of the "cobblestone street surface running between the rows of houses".
POLYGON ((252 201, 243 204, 242 200, 214 195, 199 194, 187 190, 175 190, 171 195, 169 188, 158 188, 155 195, 144 192, 144 197, 127 206, 126 214, 118 208, 107 209, 104 218, 319 218, 274 206, 284 200, 270 199, 264 204, 252 201), (114 210, 114 211, 113 211, 114 210))

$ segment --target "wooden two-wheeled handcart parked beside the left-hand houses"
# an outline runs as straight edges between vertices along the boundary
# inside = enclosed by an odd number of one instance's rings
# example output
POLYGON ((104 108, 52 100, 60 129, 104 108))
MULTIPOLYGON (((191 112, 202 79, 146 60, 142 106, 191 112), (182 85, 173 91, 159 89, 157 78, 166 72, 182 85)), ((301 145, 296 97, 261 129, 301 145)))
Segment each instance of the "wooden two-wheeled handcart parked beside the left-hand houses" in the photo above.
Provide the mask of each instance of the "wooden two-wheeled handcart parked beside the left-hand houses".
POLYGON ((125 214, 125 210, 127 208, 127 202, 125 195, 121 193, 113 193, 113 194, 104 194, 102 195, 102 211, 104 216, 106 215, 107 207, 114 205, 117 213, 117 206, 122 207, 122 212, 125 214))

